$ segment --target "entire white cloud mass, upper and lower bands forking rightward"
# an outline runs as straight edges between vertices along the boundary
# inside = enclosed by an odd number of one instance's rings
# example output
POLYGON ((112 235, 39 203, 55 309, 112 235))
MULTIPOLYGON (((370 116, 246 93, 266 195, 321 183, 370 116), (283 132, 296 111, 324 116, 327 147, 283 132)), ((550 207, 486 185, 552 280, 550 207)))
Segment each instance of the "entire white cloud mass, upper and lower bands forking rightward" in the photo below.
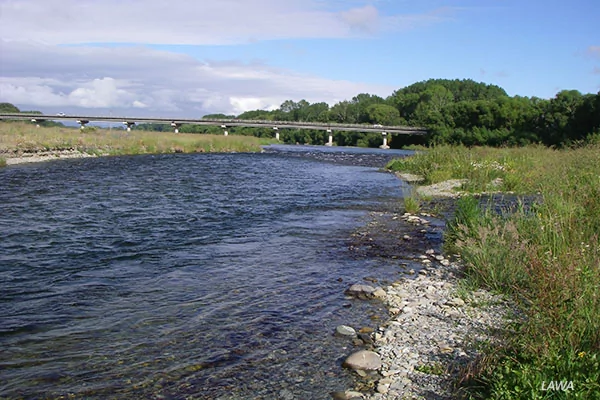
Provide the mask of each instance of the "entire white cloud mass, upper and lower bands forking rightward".
MULTIPOLYGON (((154 115, 241 113, 287 99, 335 103, 396 89, 265 63, 215 62, 153 45, 353 38, 439 21, 383 15, 364 1, 1 0, 0 101, 154 115), (118 44, 118 46, 117 46, 118 44)), ((375 3, 376 4, 376 3, 375 3)))

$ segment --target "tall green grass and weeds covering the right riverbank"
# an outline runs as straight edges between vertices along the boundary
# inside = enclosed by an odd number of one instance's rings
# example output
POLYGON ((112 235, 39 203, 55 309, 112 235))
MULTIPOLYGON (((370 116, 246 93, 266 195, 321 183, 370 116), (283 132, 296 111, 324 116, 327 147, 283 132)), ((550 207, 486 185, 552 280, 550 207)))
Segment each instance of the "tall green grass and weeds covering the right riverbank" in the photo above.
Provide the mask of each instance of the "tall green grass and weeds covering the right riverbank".
POLYGON ((527 199, 500 214, 464 196, 448 224, 445 247, 460 254, 465 286, 503 293, 518 310, 502 347, 464 371, 461 390, 486 399, 600 398, 600 144, 437 146, 388 167, 527 199), (559 381, 572 390, 544 390, 559 381))

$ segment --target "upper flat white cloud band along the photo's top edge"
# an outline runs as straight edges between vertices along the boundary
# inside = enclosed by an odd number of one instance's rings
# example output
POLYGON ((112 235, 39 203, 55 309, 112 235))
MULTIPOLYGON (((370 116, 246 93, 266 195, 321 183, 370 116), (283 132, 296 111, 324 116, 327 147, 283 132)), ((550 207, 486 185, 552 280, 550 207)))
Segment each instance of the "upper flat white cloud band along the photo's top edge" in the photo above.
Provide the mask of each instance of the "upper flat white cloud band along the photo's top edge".
POLYGON ((407 22, 432 19, 431 13, 382 16, 372 5, 347 7, 334 11, 317 0, 3 0, 0 37, 48 44, 220 45, 345 38, 380 25, 406 28, 407 22))

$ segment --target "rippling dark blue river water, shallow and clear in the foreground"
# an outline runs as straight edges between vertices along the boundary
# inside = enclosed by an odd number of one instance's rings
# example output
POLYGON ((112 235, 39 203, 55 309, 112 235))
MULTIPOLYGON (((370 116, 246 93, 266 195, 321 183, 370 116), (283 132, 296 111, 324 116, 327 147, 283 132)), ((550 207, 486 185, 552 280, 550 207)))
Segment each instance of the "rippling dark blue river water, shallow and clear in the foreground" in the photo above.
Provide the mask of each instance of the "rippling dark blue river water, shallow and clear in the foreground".
POLYGON ((61 160, 0 169, 0 397, 327 399, 353 386, 343 292, 400 207, 374 149, 61 160))

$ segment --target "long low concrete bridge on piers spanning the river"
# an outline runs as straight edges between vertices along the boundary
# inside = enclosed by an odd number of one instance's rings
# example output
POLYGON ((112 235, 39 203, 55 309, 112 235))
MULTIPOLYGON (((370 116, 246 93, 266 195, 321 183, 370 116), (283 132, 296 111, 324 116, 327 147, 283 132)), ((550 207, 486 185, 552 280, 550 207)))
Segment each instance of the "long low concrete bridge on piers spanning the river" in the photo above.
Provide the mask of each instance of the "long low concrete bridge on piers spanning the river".
POLYGON ((323 130, 329 134, 327 146, 333 145, 333 131, 358 131, 358 132, 378 132, 383 136, 381 148, 389 148, 387 145, 388 134, 401 135, 424 135, 427 133, 425 128, 410 126, 384 126, 384 125, 364 125, 364 124, 337 124, 324 122, 296 122, 296 121, 267 121, 267 120, 244 120, 244 119, 174 119, 174 118, 149 118, 149 117, 113 117, 113 116, 89 116, 89 115, 46 115, 46 114, 28 114, 11 113, 0 114, 0 120, 26 120, 33 123, 42 121, 74 121, 83 129, 90 121, 94 122, 117 122, 126 126, 127 131, 136 123, 156 123, 170 124, 175 133, 179 133, 181 125, 209 125, 220 126, 223 134, 228 135, 228 129, 235 126, 246 126, 254 128, 272 128, 275 132, 275 139, 279 140, 279 129, 316 129, 323 130))

